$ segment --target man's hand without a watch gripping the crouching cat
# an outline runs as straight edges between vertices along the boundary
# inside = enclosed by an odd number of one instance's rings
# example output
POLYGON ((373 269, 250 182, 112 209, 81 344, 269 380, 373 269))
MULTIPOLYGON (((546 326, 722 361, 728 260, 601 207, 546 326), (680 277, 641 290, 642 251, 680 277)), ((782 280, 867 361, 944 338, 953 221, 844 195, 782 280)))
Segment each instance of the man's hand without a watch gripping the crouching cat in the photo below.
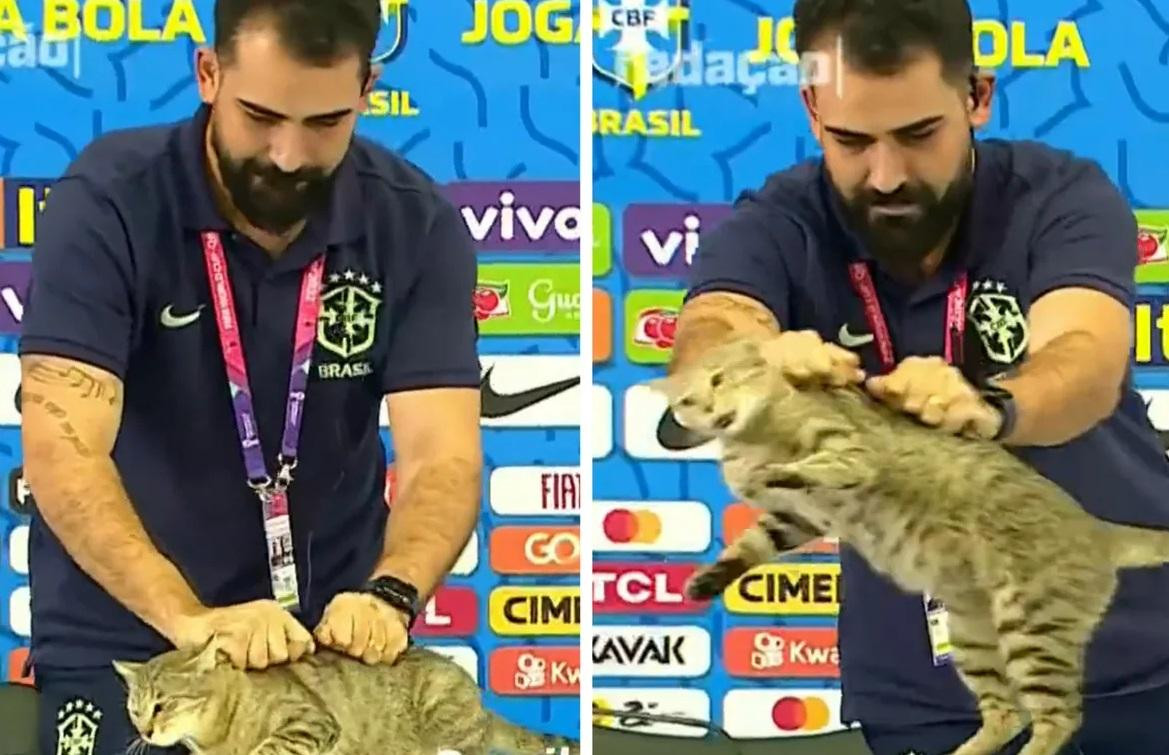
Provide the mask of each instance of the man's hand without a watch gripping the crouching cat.
POLYGON ((175 624, 175 647, 201 647, 212 637, 236 669, 267 669, 316 650, 312 635, 276 601, 209 608, 175 624))

